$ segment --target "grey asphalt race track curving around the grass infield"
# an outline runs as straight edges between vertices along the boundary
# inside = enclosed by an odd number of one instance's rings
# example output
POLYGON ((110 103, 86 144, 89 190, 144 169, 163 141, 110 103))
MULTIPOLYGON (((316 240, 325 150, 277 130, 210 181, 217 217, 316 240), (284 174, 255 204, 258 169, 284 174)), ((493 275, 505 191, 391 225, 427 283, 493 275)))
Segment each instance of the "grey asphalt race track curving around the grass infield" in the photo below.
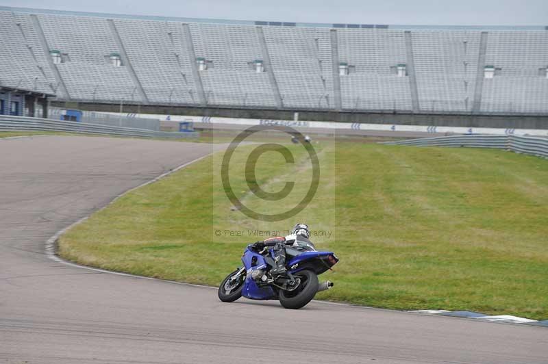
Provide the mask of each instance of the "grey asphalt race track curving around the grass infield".
POLYGON ((547 363, 546 328, 322 302, 225 304, 214 289, 45 255, 60 229, 211 148, 0 140, 0 363, 547 363))

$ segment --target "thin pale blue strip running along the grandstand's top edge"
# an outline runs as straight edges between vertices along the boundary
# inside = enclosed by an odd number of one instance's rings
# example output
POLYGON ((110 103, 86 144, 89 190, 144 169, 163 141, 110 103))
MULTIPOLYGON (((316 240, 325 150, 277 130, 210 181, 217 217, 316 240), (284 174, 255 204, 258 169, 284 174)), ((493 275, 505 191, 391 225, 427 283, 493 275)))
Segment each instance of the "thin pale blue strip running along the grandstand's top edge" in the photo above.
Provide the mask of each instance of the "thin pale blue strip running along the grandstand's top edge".
POLYGON ((238 24, 238 25, 269 25, 280 27, 323 27, 323 28, 380 28, 380 29, 423 29, 423 30, 548 30, 548 25, 527 25, 527 26, 509 26, 509 25, 386 25, 386 24, 343 24, 343 23, 289 23, 282 21, 236 21, 227 19, 203 19, 203 18, 182 18, 175 16, 147 16, 147 15, 129 15, 129 14, 109 14, 95 12, 73 12, 64 10, 48 10, 36 8, 14 8, 10 6, 0 6, 0 10, 12 12, 27 12, 29 14, 55 14, 71 16, 95 16, 104 18, 126 18, 140 19, 148 21, 175 21, 181 23, 213 23, 213 24, 238 24))

